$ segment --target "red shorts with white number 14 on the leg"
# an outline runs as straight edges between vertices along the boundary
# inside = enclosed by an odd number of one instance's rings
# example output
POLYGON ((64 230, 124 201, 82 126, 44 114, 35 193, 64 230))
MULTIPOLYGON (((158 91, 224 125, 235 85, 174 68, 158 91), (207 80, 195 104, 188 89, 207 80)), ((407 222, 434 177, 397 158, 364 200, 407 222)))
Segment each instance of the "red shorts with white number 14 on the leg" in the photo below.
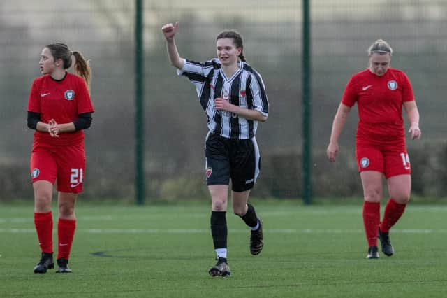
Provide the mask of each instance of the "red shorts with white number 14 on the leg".
POLYGON ((358 171, 379 171, 385 178, 410 174, 411 165, 405 144, 402 145, 357 145, 358 171))

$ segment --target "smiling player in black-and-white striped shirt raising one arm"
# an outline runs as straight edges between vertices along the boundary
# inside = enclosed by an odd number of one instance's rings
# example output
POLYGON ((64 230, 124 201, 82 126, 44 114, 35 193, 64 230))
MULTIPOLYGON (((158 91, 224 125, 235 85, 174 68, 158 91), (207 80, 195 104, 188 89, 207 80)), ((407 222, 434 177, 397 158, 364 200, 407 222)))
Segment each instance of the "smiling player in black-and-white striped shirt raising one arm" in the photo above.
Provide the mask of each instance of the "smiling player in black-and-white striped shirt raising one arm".
POLYGON ((217 58, 205 63, 179 56, 174 36, 178 22, 162 27, 171 64, 177 74, 196 86, 200 105, 207 115, 205 141, 206 176, 212 199, 211 233, 217 264, 211 276, 228 276, 226 210, 231 180, 233 212, 250 227, 250 252, 263 248, 262 222, 251 204, 249 192, 259 173, 260 155, 255 134, 258 121, 268 117, 263 80, 243 55, 242 36, 223 31, 217 36, 217 58))

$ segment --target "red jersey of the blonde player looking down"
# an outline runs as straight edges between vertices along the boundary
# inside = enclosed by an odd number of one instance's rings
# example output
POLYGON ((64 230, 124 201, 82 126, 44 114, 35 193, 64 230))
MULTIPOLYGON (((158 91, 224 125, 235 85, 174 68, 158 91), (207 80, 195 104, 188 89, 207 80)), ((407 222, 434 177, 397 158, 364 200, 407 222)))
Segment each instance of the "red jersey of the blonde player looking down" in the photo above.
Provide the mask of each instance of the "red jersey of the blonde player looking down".
POLYGON ((383 76, 365 69, 354 74, 346 85, 342 103, 358 106, 359 141, 405 141, 402 105, 413 101, 409 78, 399 69, 388 68, 383 76))

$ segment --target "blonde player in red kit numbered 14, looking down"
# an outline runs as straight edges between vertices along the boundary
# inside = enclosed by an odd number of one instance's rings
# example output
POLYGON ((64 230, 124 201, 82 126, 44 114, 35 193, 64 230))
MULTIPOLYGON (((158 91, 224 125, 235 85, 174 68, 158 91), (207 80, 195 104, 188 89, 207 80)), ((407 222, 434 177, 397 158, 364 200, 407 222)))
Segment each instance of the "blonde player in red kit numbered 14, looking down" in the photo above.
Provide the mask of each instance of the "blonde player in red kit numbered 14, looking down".
POLYGON ((379 257, 377 238, 382 252, 391 256, 389 231, 404 213, 411 193, 411 165, 405 146, 402 107, 410 122, 411 139, 419 139, 419 112, 409 78, 403 71, 390 68, 393 50, 381 39, 368 50, 369 68, 354 74, 346 85, 342 102, 332 124, 327 149, 328 159, 335 161, 338 139, 346 117, 354 104, 358 106, 356 158, 362 180, 363 222, 368 243, 368 259, 379 257), (390 199, 380 220, 382 177, 388 184, 390 199))

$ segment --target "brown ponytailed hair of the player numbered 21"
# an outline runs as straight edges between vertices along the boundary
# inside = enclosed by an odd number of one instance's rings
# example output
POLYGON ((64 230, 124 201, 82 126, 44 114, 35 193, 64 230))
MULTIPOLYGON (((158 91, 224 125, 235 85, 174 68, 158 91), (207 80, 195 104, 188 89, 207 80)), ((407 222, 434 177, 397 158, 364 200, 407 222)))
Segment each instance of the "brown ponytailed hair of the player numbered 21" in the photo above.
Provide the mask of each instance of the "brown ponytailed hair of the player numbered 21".
POLYGON ((73 61, 71 56, 73 55, 75 57, 75 64, 73 65, 75 74, 83 78, 87 83, 87 86, 90 87, 91 68, 89 60, 86 60, 81 52, 72 52, 65 43, 50 43, 49 45, 45 45, 45 48, 50 50, 54 60, 62 59, 62 62, 64 62, 64 69, 69 69, 71 67, 73 61))

